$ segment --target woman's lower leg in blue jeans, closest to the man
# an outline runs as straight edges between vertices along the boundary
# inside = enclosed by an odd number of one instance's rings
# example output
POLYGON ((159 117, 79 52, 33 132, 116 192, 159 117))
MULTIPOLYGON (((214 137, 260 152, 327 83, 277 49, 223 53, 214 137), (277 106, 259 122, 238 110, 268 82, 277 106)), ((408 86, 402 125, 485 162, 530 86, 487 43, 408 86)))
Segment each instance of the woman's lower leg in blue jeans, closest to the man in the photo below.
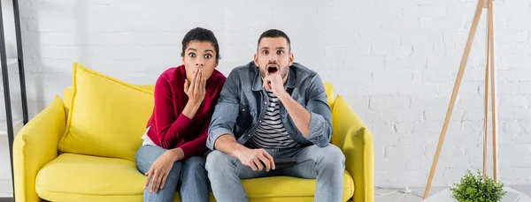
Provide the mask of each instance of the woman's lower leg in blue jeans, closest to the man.
POLYGON ((192 156, 182 161, 181 189, 179 198, 181 202, 208 202, 208 176, 204 163, 206 157, 192 156))

